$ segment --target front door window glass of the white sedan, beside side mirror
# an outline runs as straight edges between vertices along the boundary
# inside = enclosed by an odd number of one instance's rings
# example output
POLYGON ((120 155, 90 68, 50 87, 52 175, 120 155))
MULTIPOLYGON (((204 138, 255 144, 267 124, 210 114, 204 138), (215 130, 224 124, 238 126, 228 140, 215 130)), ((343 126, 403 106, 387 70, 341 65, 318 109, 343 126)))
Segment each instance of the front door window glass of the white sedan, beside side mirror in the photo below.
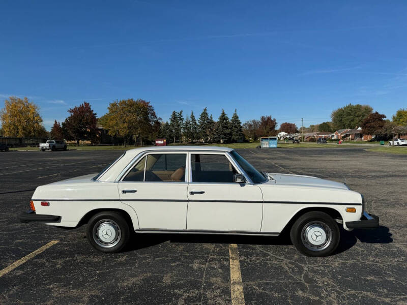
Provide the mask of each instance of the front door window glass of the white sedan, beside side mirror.
POLYGON ((191 154, 193 182, 233 182, 237 170, 225 155, 191 154))

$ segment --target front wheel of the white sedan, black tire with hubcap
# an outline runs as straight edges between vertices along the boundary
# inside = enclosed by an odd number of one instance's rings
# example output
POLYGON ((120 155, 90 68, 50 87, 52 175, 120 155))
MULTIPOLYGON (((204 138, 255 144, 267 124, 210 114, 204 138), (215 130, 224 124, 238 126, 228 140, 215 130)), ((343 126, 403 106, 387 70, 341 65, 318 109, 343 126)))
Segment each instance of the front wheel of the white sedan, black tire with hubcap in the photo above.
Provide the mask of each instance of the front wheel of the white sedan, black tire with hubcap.
POLYGON ((340 239, 336 222, 321 211, 311 211, 300 216, 289 235, 298 251, 313 257, 330 255, 338 247, 340 239))

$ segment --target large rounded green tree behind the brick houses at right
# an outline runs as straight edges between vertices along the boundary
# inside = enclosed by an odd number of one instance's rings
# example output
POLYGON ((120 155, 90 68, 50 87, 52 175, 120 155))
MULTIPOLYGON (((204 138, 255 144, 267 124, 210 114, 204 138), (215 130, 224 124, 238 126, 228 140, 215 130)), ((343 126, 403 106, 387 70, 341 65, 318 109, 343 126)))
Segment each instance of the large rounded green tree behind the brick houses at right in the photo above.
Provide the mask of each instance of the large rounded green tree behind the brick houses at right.
POLYGON ((363 120, 373 112, 369 105, 348 104, 331 113, 334 130, 343 128, 355 128, 362 125, 363 120))

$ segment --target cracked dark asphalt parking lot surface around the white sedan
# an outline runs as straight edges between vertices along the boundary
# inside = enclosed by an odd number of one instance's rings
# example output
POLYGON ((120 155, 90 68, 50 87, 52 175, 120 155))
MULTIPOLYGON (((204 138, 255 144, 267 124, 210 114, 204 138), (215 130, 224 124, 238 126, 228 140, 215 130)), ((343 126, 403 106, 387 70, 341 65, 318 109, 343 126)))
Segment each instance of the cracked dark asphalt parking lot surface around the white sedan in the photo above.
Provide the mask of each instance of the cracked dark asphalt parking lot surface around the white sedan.
POLYGON ((336 253, 309 258, 289 238, 142 235, 122 253, 95 252, 84 227, 21 224, 34 189, 98 172, 122 151, 0 153, 0 303, 230 304, 229 244, 238 245, 246 304, 407 303, 407 156, 361 147, 239 149, 260 170, 342 181, 380 216, 375 230, 341 231, 336 253), (57 241, 57 242, 56 242, 57 241))

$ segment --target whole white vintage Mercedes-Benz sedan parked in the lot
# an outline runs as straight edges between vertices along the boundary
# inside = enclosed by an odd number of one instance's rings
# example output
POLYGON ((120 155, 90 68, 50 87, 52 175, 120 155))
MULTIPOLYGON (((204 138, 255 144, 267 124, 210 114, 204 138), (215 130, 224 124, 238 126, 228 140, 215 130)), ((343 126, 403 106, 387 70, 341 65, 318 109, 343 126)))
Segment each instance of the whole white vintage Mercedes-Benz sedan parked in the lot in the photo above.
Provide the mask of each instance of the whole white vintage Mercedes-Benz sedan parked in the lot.
POLYGON ((126 151, 99 174, 38 187, 21 222, 77 227, 91 245, 118 252, 137 233, 278 236, 308 256, 331 254, 345 230, 374 228, 363 196, 317 177, 264 173, 237 151, 157 146, 126 151))

